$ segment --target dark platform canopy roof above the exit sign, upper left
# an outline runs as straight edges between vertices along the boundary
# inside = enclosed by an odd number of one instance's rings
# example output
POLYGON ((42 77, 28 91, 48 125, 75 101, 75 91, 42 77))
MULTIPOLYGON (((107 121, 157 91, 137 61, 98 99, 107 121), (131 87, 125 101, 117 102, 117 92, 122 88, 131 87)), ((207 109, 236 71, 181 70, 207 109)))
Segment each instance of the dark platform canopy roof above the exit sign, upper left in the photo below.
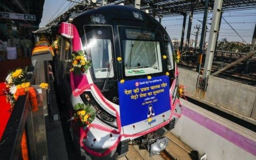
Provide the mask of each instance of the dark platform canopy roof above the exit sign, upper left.
POLYGON ((1 0, 0 12, 35 15, 35 21, 23 21, 38 26, 43 16, 43 6, 44 0, 1 0))

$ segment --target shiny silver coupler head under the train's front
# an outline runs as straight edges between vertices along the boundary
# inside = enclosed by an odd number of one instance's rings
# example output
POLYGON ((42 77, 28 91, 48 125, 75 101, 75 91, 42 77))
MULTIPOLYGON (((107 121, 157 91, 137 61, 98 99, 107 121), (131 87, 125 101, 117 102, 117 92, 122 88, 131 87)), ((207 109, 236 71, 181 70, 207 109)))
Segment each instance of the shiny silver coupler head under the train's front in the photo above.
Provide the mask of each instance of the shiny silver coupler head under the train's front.
POLYGON ((150 157, 153 155, 159 155, 162 150, 168 145, 168 139, 166 137, 156 140, 149 147, 150 157))

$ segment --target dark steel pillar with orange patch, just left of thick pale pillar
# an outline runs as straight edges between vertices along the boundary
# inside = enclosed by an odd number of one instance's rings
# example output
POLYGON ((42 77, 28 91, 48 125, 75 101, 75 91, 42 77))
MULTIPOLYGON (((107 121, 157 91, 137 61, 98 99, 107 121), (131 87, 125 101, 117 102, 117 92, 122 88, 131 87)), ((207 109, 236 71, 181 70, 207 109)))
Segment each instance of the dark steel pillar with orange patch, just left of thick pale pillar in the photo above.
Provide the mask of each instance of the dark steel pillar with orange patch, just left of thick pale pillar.
POLYGON ((206 33, 206 27, 207 27, 206 22, 207 22, 207 16, 208 16, 208 7, 209 7, 209 0, 205 0, 204 20, 203 20, 201 39, 200 39, 200 45, 199 45, 199 53, 197 55, 197 66, 196 66, 196 72, 198 72, 199 74, 200 74, 201 63, 203 58, 204 40, 205 40, 205 33, 206 33))

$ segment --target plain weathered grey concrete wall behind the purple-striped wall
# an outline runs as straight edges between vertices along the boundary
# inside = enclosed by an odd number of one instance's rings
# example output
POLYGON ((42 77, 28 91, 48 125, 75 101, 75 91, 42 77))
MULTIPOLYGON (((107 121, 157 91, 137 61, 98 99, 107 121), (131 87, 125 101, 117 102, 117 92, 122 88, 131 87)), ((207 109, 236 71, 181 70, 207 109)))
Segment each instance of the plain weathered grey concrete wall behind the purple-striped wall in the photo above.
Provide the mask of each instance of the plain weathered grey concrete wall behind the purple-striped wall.
POLYGON ((210 106, 249 122, 256 120, 256 87, 209 76, 207 90, 204 92, 196 89, 197 77, 197 72, 179 68, 179 83, 183 81, 187 86, 185 91, 190 94, 188 96, 212 103, 210 106))

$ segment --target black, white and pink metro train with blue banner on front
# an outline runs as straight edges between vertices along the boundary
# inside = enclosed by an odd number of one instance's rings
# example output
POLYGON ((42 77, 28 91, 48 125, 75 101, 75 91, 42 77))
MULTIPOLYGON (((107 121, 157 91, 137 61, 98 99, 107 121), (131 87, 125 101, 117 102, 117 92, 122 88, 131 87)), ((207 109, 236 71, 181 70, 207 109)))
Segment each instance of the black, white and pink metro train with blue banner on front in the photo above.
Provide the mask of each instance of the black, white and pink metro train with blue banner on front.
POLYGON ((97 112, 88 126, 68 121, 81 154, 116 159, 130 144, 144 146, 150 156, 160 154, 182 110, 174 48, 163 26, 139 9, 108 5, 69 17, 58 34, 55 79, 69 116, 77 103, 97 112), (92 66, 76 76, 68 60, 79 50, 92 66))

